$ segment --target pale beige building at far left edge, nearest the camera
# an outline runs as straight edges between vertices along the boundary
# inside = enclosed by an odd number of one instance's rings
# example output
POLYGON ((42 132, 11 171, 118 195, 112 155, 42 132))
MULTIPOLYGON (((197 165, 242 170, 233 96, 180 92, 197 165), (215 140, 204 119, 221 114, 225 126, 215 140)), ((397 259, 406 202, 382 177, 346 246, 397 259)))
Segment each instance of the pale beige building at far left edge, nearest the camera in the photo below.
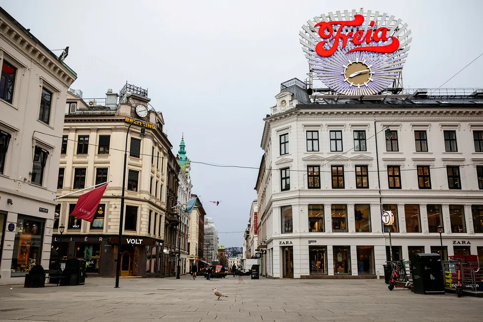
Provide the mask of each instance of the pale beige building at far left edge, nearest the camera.
POLYGON ((49 265, 64 107, 76 74, 0 8, 0 285, 49 265))

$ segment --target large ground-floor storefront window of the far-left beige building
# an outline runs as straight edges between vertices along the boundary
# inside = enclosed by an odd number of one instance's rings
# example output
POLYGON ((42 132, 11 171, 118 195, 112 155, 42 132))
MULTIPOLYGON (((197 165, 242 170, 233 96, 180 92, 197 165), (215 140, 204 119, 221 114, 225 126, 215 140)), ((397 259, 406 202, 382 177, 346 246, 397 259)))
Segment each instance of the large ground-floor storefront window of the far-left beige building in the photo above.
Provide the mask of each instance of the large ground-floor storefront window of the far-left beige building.
POLYGON ((40 264, 45 221, 19 215, 12 255, 12 277, 24 276, 35 264, 40 264))

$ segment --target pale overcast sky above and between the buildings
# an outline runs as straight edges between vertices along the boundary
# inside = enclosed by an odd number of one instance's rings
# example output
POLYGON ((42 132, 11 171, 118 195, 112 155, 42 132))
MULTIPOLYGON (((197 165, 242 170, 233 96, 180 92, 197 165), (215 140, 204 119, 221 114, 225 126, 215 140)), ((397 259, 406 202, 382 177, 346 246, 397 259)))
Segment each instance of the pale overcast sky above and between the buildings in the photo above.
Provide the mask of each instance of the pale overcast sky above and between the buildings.
MULTIPOLYGON (((69 46, 66 64, 84 98, 104 97, 128 81, 149 89, 177 153, 184 132, 188 157, 258 167, 263 120, 280 83, 304 80, 308 63, 301 26, 329 11, 370 9, 408 23, 413 42, 405 87, 439 87, 483 52, 483 1, 183 1, 0 0, 50 49, 69 46), (333 3, 338 4, 333 4, 333 3)), ((59 53, 60 52, 56 52, 59 53)), ((483 57, 444 87, 483 87, 483 57)), ((219 232, 244 231, 257 170, 193 164, 193 193, 219 232)), ((241 247, 243 233, 219 233, 241 247)))

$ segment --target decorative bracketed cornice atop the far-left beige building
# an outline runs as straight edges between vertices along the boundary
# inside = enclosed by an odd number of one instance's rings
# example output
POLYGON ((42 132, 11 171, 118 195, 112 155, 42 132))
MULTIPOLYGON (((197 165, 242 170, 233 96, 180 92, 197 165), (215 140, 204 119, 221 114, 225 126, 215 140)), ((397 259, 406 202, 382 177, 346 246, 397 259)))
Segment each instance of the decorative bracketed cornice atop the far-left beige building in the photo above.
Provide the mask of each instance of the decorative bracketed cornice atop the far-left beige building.
POLYGON ((18 51, 29 57, 42 67, 51 76, 69 88, 77 76, 69 71, 59 60, 54 59, 50 53, 38 46, 25 32, 16 31, 17 27, 0 17, 0 36, 15 47, 18 51))

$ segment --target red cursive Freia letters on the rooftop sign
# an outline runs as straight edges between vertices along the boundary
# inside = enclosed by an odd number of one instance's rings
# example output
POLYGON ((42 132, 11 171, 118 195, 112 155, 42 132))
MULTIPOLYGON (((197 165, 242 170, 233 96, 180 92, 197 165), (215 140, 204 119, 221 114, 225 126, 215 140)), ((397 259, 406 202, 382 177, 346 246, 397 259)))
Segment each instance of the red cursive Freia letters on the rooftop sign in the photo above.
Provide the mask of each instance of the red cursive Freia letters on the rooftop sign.
POLYGON ((352 41, 354 45, 360 45, 364 41, 366 43, 371 43, 372 41, 380 41, 380 40, 386 41, 389 38, 392 39, 392 43, 390 44, 383 45, 383 46, 357 47, 347 51, 347 53, 350 53, 353 51, 372 51, 376 53, 392 53, 399 49, 399 40, 394 36, 388 37, 387 32, 389 31, 389 29, 387 29, 386 27, 380 27, 376 29, 376 31, 373 34, 372 27, 374 27, 374 24, 375 24, 374 21, 371 21, 369 23, 371 28, 369 28, 365 34, 363 30, 358 30, 355 33, 353 32, 348 32, 347 34, 342 33, 345 26, 352 26, 352 27, 362 26, 363 23, 364 23, 364 17, 360 14, 354 15, 354 20, 351 20, 351 21, 319 22, 318 24, 315 25, 316 27, 317 26, 320 27, 319 36, 321 36, 323 39, 334 40, 334 44, 330 49, 325 49, 324 44, 326 44, 328 41, 320 41, 315 46, 315 52, 322 57, 329 57, 330 55, 336 52, 337 48, 339 48, 340 40, 342 40, 342 48, 345 48, 345 46, 347 45, 347 41, 352 41), (340 25, 335 36, 332 36, 334 34, 332 25, 340 25))

